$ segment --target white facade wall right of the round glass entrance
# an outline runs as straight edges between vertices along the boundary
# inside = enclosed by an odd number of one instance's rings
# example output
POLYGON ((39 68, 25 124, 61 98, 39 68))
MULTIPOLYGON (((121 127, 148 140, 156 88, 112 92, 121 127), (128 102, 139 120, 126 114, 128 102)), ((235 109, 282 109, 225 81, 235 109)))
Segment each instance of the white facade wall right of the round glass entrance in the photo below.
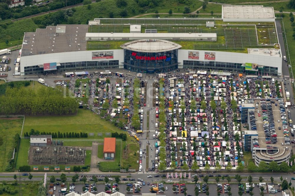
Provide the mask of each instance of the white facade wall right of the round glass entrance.
POLYGON ((205 50, 178 50, 178 62, 183 65, 183 60, 189 59, 188 52, 199 52, 199 60, 197 61, 212 61, 205 60, 205 52, 215 52, 215 62, 228 62, 228 63, 256 63, 258 65, 265 65, 269 67, 278 67, 278 75, 282 73, 282 57, 264 56, 258 54, 247 54, 237 52, 221 52, 221 51, 205 51, 205 50))

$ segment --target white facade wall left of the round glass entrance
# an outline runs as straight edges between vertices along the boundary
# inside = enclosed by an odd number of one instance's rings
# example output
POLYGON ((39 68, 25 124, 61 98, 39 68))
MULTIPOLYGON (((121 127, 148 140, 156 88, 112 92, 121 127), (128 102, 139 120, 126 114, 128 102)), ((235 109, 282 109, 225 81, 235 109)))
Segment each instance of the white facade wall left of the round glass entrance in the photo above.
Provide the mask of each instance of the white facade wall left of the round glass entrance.
POLYGON ((21 57, 20 72, 24 75, 24 67, 40 65, 44 63, 68 63, 81 61, 106 61, 119 60, 119 64, 124 61, 124 50, 92 50, 92 51, 77 51, 77 52, 61 52, 51 54, 40 54, 21 57), (99 51, 114 51, 114 59, 92 59, 92 52, 99 51))

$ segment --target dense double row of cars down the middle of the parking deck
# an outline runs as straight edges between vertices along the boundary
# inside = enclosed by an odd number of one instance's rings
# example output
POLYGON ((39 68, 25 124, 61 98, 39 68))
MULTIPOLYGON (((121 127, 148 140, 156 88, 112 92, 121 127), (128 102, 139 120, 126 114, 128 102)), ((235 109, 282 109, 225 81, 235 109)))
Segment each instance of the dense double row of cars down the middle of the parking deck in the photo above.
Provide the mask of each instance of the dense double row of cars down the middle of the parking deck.
POLYGON ((261 103, 261 109, 262 109, 265 142, 266 144, 276 144, 277 134, 275 129, 272 105, 270 102, 268 103, 263 102, 261 103))

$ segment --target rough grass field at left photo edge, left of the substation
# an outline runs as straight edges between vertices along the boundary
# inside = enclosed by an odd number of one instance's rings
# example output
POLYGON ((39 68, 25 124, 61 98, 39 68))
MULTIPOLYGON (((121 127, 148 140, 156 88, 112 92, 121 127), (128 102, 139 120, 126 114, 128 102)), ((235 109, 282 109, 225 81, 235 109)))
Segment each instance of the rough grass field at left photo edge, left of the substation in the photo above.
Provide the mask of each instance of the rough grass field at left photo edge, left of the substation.
MULTIPOLYGON (((1 119, 0 118, 0 171, 4 172, 13 154, 13 137, 22 131, 23 118, 1 119)), ((16 156, 16 154, 15 154, 16 156)))

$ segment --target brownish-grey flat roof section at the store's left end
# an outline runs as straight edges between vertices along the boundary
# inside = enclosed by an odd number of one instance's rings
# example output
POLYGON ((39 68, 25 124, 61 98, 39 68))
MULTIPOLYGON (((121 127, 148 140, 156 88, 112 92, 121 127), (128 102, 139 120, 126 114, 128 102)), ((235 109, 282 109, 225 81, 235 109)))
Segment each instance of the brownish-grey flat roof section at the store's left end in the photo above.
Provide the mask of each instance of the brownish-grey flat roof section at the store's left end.
POLYGON ((56 33, 56 26, 36 29, 36 32, 25 32, 24 41, 27 41, 27 44, 22 44, 21 56, 86 50, 85 34, 88 25, 60 26, 65 26, 65 33, 56 33))

